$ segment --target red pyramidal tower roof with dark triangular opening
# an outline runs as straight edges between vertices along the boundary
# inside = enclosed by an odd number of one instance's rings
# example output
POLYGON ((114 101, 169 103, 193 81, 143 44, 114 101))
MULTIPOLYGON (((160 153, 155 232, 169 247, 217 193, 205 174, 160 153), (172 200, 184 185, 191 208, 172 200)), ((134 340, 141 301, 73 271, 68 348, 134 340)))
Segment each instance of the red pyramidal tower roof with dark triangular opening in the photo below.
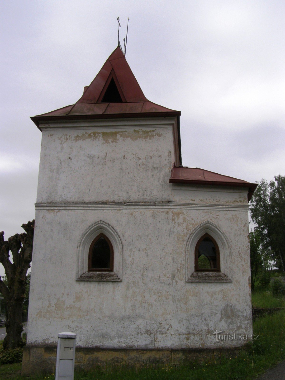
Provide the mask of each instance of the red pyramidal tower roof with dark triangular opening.
POLYGON ((147 100, 121 49, 117 47, 82 97, 73 105, 31 117, 39 127, 47 120, 180 116, 180 111, 147 100))

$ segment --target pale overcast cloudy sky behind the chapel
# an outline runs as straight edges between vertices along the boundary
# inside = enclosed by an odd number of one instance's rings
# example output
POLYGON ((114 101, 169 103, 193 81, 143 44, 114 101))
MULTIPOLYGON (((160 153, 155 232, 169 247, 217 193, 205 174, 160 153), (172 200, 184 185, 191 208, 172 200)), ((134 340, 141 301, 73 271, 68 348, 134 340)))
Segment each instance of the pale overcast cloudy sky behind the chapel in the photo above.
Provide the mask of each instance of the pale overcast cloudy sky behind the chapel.
MULTIPOLYGON (((2 0, 0 230, 35 216, 41 132, 120 41, 146 97, 181 111, 182 163, 285 175, 285 1, 2 0)), ((3 271, 0 269, 0 274, 3 271)))

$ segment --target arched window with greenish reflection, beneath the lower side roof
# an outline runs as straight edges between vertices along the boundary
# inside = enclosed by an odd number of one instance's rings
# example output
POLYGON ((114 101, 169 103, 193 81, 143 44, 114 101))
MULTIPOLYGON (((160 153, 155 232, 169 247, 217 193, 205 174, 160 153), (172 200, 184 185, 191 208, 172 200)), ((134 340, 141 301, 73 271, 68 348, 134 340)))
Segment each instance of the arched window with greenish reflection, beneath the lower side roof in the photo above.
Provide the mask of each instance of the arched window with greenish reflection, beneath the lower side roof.
POLYGON ((200 237, 195 247, 195 271, 220 272, 220 251, 207 233, 200 237))

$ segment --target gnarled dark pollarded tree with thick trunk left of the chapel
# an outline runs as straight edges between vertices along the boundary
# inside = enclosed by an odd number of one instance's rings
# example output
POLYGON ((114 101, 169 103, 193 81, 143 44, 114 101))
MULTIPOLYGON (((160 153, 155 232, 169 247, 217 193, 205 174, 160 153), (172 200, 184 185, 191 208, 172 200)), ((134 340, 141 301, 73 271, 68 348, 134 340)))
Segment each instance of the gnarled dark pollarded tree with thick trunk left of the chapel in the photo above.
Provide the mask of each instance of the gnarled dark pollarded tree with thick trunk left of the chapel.
POLYGON ((6 337, 4 350, 21 347, 23 302, 25 299, 27 270, 30 268, 33 253, 33 234, 35 220, 23 224, 24 233, 15 234, 4 240, 4 232, 0 233, 0 262, 7 279, 7 285, 0 276, 0 291, 6 303, 6 337), (9 260, 11 251, 13 263, 9 260))

